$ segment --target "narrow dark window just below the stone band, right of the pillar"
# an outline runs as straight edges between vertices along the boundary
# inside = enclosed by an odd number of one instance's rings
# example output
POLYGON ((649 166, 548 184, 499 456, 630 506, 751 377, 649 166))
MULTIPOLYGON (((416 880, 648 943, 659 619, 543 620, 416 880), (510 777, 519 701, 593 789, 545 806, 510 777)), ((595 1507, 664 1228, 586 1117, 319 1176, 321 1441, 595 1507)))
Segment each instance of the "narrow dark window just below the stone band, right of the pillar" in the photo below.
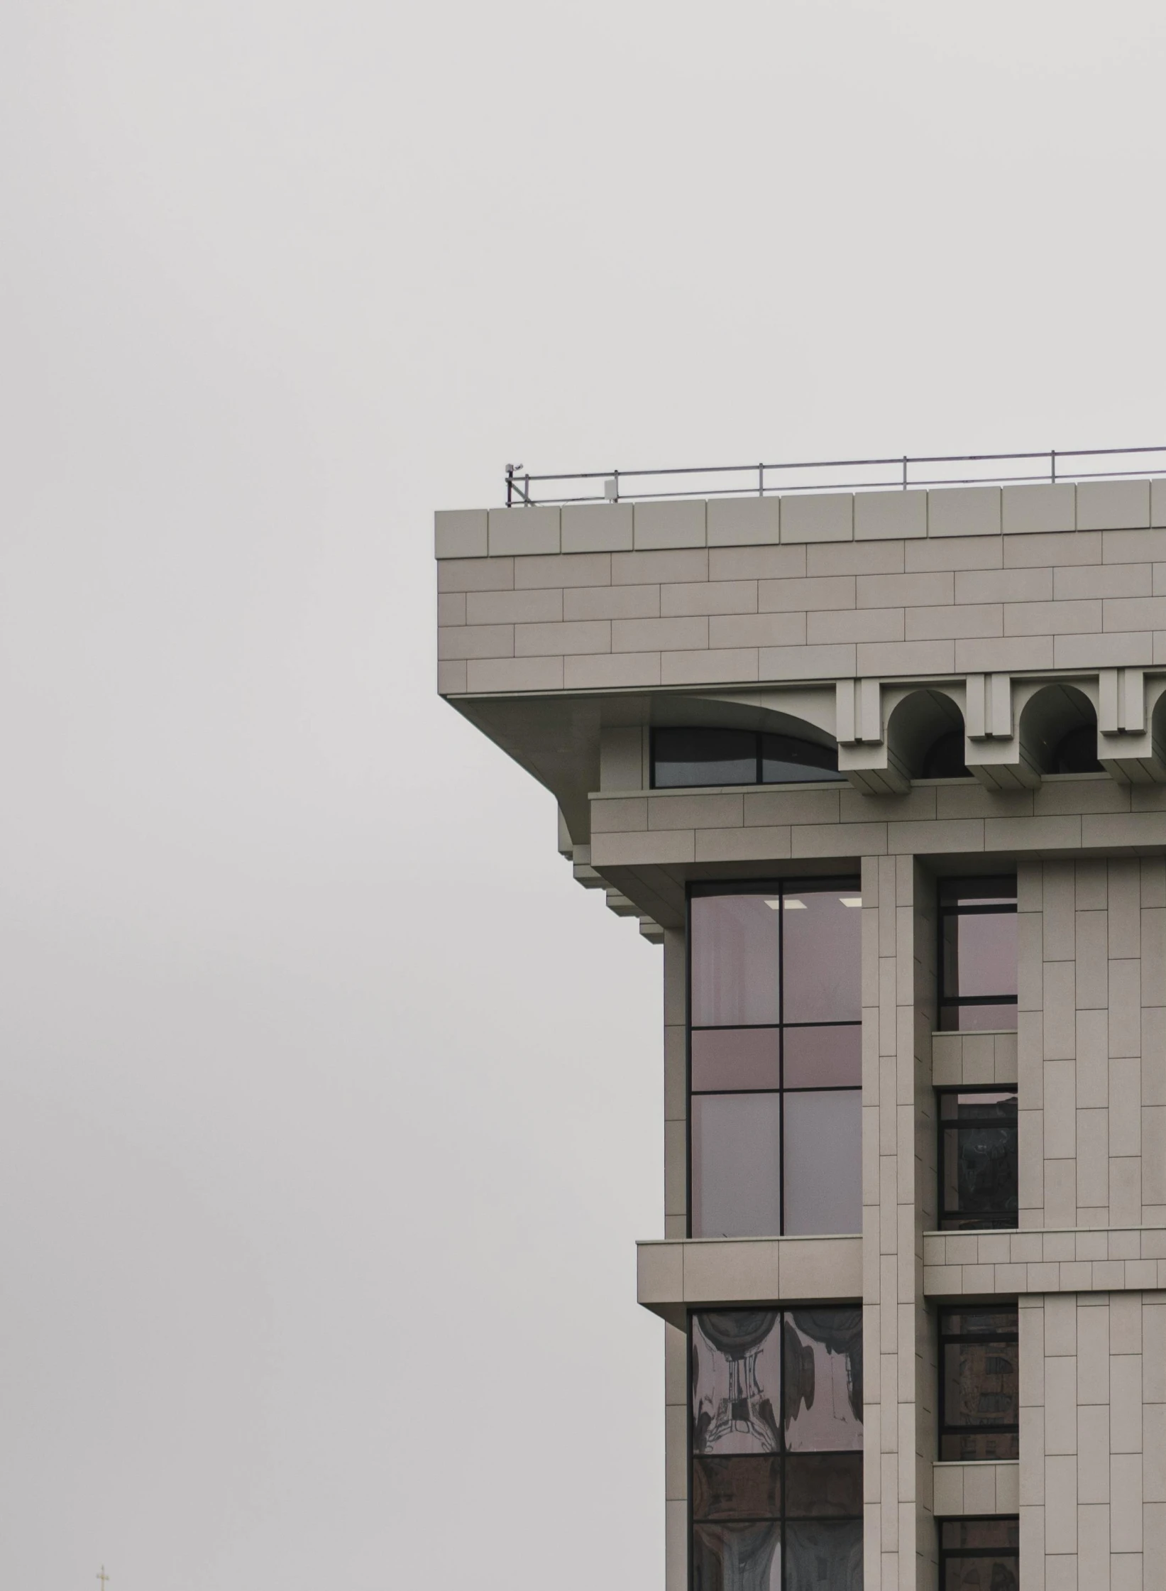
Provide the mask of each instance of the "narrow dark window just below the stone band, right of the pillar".
POLYGON ((940 1309, 939 1456, 1020 1457, 1016 1306, 940 1309))

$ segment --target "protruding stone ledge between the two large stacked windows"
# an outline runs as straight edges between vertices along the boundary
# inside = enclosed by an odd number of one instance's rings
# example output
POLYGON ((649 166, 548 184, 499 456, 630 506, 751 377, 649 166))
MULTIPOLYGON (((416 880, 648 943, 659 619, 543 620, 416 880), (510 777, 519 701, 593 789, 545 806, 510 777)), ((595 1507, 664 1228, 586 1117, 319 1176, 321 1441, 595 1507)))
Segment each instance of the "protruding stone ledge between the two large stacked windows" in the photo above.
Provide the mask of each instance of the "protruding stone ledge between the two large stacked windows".
POLYGON ((684 1327, 690 1309, 862 1298, 862 1238, 684 1238, 636 1244, 639 1303, 684 1327))

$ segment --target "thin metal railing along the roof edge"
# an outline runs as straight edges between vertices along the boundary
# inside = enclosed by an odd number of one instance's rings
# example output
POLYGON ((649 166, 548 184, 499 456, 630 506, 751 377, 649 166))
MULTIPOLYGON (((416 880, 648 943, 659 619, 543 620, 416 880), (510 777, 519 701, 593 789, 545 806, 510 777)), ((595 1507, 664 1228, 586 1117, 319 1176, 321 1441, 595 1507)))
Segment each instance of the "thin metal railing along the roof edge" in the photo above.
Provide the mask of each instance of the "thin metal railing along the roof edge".
POLYGON ((506 466, 506 506, 627 503, 684 496, 765 496, 770 492, 902 490, 910 487, 1112 480, 1166 471, 1161 447, 1074 447, 1034 453, 926 453, 827 458, 787 465, 687 465, 678 469, 576 469, 533 474, 506 466), (1141 460, 1136 463, 1136 460, 1141 460), (1104 468, 1088 468, 1099 465, 1104 468), (939 473, 935 473, 939 471, 939 473), (716 484, 706 477, 716 477, 716 484), (681 484, 684 480, 684 484, 681 484), (674 482, 674 485, 673 485, 674 482), (542 487, 558 490, 544 492, 542 487))

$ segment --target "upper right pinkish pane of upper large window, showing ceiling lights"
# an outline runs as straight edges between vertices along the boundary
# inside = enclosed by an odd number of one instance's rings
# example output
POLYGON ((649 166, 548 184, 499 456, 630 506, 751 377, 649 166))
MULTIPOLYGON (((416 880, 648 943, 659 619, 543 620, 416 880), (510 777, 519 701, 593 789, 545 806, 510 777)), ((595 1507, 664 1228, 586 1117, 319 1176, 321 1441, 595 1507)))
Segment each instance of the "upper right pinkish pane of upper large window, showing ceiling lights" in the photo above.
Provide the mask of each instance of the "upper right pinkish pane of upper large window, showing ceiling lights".
POLYGON ((857 1021, 861 1009, 862 912, 853 891, 794 893, 805 910, 781 913, 786 1021, 857 1021))

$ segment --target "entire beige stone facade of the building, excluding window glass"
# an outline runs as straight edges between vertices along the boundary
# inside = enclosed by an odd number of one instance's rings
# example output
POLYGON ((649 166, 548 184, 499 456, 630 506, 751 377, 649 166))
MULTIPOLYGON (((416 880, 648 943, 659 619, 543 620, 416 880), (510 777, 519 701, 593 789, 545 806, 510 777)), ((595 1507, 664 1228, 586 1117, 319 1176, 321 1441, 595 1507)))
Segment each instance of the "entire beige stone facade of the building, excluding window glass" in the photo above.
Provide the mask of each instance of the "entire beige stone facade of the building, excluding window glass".
POLYGON ((437 515, 439 690, 663 945, 668 1591, 694 1308, 862 1303, 865 1591, 1020 1516, 1024 1591, 1166 1585, 1166 480, 437 515), (837 745, 845 783, 651 788, 662 725, 837 745), (1047 748, 1096 725, 1101 772, 1047 748), (967 776, 923 778, 958 725, 967 776), (937 880, 1013 873, 1016 1031, 937 1033, 937 880), (686 897, 862 880, 862 1231, 689 1238, 686 897), (937 1088, 1018 1091, 1016 1230, 937 1231, 937 1088), (940 1462, 940 1303, 1020 1317, 1018 1462, 940 1462))

